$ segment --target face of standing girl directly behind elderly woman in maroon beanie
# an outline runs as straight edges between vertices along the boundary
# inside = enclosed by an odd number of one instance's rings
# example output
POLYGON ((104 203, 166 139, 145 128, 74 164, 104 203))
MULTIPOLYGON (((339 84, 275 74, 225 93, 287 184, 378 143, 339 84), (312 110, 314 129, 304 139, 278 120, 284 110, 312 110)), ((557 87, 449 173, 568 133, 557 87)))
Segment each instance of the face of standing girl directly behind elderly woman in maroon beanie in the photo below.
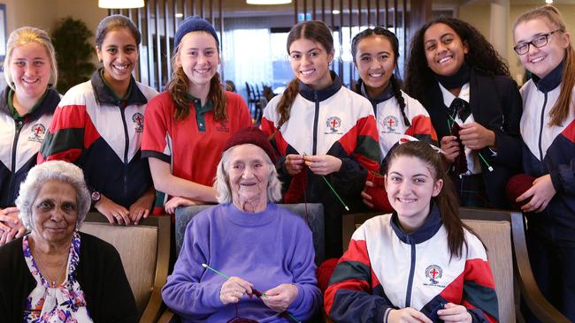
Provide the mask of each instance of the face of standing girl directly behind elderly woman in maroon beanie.
POLYGON ((327 53, 316 41, 300 38, 289 45, 289 63, 295 77, 314 90, 332 84, 329 64, 333 59, 334 53, 327 53))

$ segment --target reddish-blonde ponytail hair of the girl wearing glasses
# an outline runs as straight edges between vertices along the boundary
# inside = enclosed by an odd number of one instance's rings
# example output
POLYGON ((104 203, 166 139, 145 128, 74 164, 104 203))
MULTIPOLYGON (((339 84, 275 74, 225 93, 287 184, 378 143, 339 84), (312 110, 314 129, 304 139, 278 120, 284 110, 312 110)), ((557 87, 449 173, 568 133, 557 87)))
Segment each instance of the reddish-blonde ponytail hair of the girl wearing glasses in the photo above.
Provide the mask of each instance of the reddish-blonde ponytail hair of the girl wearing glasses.
MULTIPOLYGON (((549 4, 527 11, 519 16, 515 25, 513 25, 513 31, 520 23, 534 19, 547 20, 549 24, 554 26, 554 29, 558 29, 561 33, 567 32, 561 13, 556 7, 549 4)), ((555 106, 549 112, 551 116, 549 125, 561 125, 569 116, 569 109, 572 105, 575 105, 572 95, 573 86, 575 86, 575 50, 570 41, 569 46, 565 49, 565 66, 563 67, 561 90, 555 106)))

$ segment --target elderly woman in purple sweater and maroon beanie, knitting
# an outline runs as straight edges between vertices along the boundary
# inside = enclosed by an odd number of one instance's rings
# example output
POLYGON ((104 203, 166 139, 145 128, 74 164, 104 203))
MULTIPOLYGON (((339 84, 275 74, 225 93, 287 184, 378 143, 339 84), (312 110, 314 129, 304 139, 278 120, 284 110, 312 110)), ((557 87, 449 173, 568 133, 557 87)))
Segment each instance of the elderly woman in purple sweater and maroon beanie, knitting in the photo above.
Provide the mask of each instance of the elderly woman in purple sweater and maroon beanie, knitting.
POLYGON ((162 289, 165 304, 184 322, 309 319, 321 302, 311 231, 273 203, 281 194, 272 145, 251 126, 224 150, 215 183, 220 204, 189 222, 162 289))

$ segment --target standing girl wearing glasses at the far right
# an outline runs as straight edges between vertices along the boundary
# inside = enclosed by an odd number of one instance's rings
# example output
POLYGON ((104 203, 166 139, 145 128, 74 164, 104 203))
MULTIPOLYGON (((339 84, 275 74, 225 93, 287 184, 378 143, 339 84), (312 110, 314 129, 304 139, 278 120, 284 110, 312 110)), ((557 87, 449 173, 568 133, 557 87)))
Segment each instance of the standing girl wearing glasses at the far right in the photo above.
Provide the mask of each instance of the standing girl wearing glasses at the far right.
POLYGON ((523 165, 533 184, 527 247, 543 295, 575 320, 575 51, 559 11, 546 5, 521 15, 515 51, 533 79, 521 88, 523 165))

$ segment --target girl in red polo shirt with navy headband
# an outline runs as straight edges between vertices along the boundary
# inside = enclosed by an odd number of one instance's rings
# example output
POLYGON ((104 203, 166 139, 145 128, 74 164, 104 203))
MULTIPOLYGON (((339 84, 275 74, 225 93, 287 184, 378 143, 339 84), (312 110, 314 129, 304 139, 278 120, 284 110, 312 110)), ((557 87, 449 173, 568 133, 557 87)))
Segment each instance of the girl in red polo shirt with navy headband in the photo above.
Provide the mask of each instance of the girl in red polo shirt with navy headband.
POLYGON ((165 210, 217 203, 212 187, 226 141, 251 124, 242 96, 219 79, 219 38, 197 16, 184 19, 173 44, 172 79, 167 91, 149 102, 142 156, 156 189, 168 194, 165 210))

